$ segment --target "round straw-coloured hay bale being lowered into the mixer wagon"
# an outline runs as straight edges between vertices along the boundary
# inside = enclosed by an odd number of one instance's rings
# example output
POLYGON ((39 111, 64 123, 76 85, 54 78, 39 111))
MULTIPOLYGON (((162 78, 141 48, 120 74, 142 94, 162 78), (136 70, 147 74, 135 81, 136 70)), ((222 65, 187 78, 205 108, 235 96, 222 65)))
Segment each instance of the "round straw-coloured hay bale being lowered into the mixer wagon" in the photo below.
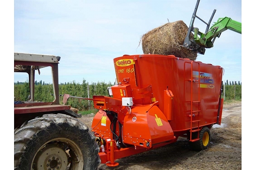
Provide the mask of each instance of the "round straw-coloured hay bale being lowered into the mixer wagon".
MULTIPOLYGON (((175 57, 195 60, 198 56, 197 52, 180 46, 183 45, 187 32, 188 27, 181 20, 154 28, 141 37, 143 53, 175 55, 175 57)), ((191 33, 190 39, 193 37, 191 33)))

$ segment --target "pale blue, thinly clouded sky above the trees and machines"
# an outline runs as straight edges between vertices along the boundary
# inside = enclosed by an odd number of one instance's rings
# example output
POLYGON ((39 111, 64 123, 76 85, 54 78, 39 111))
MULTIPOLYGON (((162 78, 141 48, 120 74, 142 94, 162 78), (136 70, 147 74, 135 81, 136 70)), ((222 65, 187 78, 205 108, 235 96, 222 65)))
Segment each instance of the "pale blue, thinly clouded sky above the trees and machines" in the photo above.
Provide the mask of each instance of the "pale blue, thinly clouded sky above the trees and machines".
MULTIPOLYGON (((113 59, 143 54, 140 38, 165 23, 189 26, 196 0, 15 0, 14 51, 60 56, 59 82, 115 82, 113 59)), ((241 0, 201 0, 197 16, 208 23, 230 17, 241 22, 241 0)), ((195 20, 204 32, 206 24, 195 20)), ((196 61, 224 68, 223 81, 241 82, 241 34, 227 30, 196 61)), ((36 80, 51 83, 49 69, 36 80)), ((25 82, 15 74, 14 82, 25 82)))

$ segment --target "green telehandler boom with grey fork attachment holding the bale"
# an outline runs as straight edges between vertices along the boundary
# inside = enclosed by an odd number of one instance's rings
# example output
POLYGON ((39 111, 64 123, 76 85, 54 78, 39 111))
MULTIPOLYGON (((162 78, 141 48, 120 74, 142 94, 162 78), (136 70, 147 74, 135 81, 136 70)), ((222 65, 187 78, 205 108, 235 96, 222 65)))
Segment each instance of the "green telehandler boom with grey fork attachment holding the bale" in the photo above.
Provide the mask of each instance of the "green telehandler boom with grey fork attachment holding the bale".
POLYGON ((183 47, 188 48, 192 51, 197 51, 199 54, 204 54, 205 48, 212 48, 216 37, 220 37, 223 31, 226 31, 227 29, 229 29, 239 34, 242 33, 242 24, 238 21, 232 20, 229 17, 219 18, 217 22, 214 23, 211 28, 209 28, 212 18, 216 12, 216 9, 213 10, 213 13, 212 13, 212 16, 210 17, 209 22, 206 23, 204 22, 204 20, 202 20, 200 17, 196 15, 199 2, 200 0, 198 0, 196 3, 191 22, 189 24, 188 33, 183 42, 183 47), (193 24, 194 24, 195 18, 198 18, 199 20, 201 20, 203 23, 207 25, 205 33, 200 32, 198 28, 194 28, 193 24), (189 39, 191 32, 194 32, 194 39, 192 40, 189 39))

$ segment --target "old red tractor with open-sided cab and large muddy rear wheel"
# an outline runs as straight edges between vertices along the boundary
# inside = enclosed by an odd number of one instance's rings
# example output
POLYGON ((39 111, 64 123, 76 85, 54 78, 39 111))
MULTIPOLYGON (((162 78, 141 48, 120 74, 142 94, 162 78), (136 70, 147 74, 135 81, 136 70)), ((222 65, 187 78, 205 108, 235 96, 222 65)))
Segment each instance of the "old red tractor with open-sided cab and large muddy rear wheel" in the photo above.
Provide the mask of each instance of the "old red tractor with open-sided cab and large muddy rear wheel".
POLYGON ((14 71, 29 75, 29 101, 14 103, 15 170, 95 170, 100 164, 99 147, 91 130, 77 119, 70 106, 59 104, 60 57, 14 53, 14 71), (52 70, 55 99, 34 101, 35 74, 52 70))

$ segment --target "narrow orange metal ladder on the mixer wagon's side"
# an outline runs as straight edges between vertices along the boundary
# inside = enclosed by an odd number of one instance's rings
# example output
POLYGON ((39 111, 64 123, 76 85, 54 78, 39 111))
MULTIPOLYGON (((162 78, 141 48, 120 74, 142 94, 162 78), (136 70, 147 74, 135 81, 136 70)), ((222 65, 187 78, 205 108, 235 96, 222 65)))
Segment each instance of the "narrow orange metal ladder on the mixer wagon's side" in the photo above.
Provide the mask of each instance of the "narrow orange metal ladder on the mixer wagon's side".
MULTIPOLYGON (((199 131, 200 131, 199 123, 201 121, 199 119, 199 114, 201 112, 201 110, 200 110, 200 104, 201 104, 201 99, 200 99, 200 65, 199 65, 199 62, 195 62, 195 61, 185 62, 184 63, 184 69, 185 69, 186 63, 189 64, 190 68, 191 68, 189 79, 185 79, 185 82, 190 83, 190 89, 191 89, 190 99, 188 101, 185 101, 186 103, 189 103, 189 105, 190 105, 190 109, 186 110, 186 113, 189 112, 189 115, 186 114, 186 116, 190 117, 190 120, 189 120, 189 122, 190 122, 190 130, 189 130, 190 139, 189 139, 189 141, 190 142, 195 142, 195 141, 199 140, 199 131), (195 71, 198 74, 198 79, 195 79, 195 77, 197 77, 196 75, 193 76, 193 63, 198 64, 198 67, 195 71), (193 91, 195 89, 198 89, 197 93, 193 93, 193 91), (195 123, 197 125, 196 125, 196 127, 193 127, 193 125, 195 125, 195 123), (196 133, 196 132, 197 132, 197 137, 195 139, 192 139, 192 133, 196 133)), ((185 85, 184 85, 184 88, 185 88, 185 85)), ((184 92, 185 92, 185 89, 184 89, 184 92)), ((184 95, 185 95, 185 93, 184 93, 184 95)))

